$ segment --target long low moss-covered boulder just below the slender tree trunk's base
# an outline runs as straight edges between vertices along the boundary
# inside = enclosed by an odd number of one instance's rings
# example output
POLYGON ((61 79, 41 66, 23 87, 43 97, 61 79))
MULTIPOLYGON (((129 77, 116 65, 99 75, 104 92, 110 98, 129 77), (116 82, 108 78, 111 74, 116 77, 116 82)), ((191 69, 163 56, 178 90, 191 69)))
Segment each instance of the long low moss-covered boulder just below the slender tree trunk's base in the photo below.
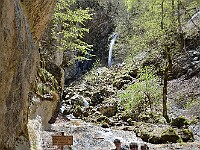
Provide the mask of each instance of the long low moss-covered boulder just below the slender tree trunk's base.
POLYGON ((194 141, 191 130, 172 128, 169 125, 155 125, 144 122, 134 122, 134 128, 131 129, 131 127, 128 127, 128 130, 134 130, 136 135, 143 141, 152 144, 194 141))

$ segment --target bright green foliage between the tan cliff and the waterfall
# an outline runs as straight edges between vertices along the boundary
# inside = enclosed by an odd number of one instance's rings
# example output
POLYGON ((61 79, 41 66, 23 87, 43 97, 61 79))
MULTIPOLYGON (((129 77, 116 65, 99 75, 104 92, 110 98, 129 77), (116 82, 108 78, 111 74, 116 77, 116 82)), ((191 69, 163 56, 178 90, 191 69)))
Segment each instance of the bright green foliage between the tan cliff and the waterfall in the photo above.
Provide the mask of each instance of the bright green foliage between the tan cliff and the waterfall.
MULTIPOLYGON (((89 29, 84 23, 91 19, 89 9, 76 9, 75 0, 58 0, 53 16, 52 36, 60 50, 73 50, 86 55, 91 48, 83 41, 89 29)), ((83 59, 83 58, 81 58, 83 59)))

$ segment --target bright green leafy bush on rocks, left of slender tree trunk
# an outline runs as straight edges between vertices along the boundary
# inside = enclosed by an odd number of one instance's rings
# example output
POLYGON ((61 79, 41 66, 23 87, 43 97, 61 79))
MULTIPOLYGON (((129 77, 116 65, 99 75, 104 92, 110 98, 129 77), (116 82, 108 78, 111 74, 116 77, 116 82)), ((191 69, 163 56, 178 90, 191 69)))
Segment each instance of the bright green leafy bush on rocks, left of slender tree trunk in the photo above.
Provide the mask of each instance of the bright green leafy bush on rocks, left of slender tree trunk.
POLYGON ((159 78, 154 75, 152 67, 139 71, 139 81, 127 87, 119 98, 127 112, 140 113, 148 108, 153 109, 161 99, 159 78))

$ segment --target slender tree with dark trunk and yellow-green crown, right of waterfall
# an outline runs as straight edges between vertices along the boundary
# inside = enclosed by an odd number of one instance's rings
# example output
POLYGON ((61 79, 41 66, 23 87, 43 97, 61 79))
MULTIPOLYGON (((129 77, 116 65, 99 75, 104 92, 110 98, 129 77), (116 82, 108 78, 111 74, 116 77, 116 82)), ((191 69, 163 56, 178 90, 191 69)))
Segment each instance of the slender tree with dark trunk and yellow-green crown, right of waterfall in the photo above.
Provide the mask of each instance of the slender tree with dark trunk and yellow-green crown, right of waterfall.
POLYGON ((157 61, 163 75, 163 116, 167 122, 169 74, 174 57, 177 53, 184 53, 182 25, 187 16, 183 13, 183 6, 190 8, 197 3, 195 0, 127 0, 128 9, 135 12, 131 53, 137 55, 146 51, 148 57, 157 61))

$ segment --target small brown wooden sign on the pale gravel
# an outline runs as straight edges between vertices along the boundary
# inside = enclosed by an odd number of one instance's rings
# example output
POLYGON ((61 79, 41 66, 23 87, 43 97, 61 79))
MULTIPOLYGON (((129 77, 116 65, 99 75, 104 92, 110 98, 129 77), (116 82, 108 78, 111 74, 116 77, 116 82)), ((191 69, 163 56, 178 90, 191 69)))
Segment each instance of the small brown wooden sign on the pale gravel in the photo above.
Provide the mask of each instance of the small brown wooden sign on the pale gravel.
POLYGON ((73 145, 73 136, 64 136, 62 133, 61 136, 52 136, 53 145, 64 146, 64 145, 73 145))

